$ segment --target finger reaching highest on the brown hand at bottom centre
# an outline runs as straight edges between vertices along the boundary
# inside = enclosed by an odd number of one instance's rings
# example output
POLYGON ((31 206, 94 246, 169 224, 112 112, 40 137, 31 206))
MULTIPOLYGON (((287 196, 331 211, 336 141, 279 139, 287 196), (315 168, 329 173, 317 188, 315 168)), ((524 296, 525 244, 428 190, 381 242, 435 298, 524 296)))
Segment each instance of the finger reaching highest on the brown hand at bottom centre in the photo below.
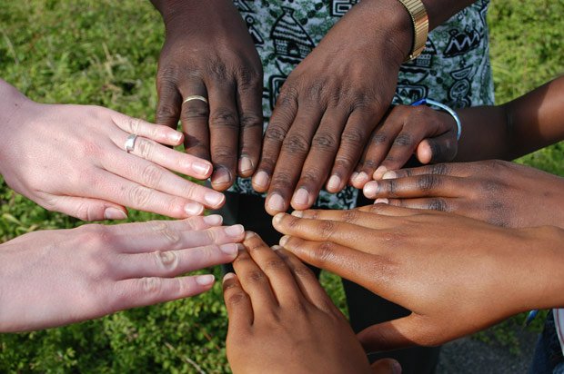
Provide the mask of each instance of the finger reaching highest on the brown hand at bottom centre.
POLYGON ((260 270, 267 275, 270 288, 279 305, 298 305, 303 302, 302 293, 286 261, 272 251, 254 232, 247 232, 243 245, 260 270))

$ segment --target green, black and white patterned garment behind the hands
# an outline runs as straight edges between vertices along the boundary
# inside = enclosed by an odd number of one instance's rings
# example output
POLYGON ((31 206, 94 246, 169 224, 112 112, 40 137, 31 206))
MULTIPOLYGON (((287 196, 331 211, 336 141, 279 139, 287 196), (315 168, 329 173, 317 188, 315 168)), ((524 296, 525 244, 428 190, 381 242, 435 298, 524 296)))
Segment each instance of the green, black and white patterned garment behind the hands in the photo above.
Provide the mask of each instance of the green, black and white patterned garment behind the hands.
MULTIPOLYGON (((265 72, 265 128, 287 75, 358 0, 234 0, 253 36, 265 72)), ((492 104, 489 65, 489 0, 480 0, 428 35, 421 55, 402 65, 394 103, 428 97, 452 108, 492 104)), ((249 179, 239 179, 233 192, 254 192, 249 179)), ((358 191, 322 191, 317 207, 353 208, 358 191)))

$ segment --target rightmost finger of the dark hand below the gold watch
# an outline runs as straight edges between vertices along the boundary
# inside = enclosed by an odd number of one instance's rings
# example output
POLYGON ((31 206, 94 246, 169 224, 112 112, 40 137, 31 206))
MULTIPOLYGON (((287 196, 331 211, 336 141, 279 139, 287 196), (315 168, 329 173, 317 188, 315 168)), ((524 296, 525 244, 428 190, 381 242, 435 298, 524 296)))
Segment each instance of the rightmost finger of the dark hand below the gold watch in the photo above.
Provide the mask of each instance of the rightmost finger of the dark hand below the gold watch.
POLYGON ((368 182, 368 174, 352 174, 367 145, 369 135, 377 124, 374 116, 375 113, 369 111, 368 108, 361 108, 348 117, 347 125, 341 135, 341 145, 335 158, 335 166, 331 172, 331 177, 336 175, 343 181, 343 186, 344 182, 349 179, 357 188, 362 188, 361 186, 368 182))

